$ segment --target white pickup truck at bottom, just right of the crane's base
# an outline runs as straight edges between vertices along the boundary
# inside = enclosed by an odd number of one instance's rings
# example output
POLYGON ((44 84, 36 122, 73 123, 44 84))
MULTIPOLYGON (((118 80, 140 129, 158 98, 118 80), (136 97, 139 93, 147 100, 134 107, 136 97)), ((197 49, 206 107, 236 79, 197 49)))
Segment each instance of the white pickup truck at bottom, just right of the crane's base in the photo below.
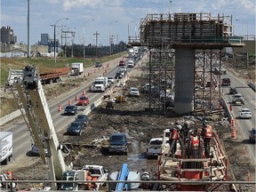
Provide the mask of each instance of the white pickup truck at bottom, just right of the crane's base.
POLYGON ((96 188, 93 188, 95 190, 99 190, 105 184, 104 182, 97 183, 97 180, 108 180, 108 170, 101 165, 84 165, 82 170, 91 172, 92 180, 96 181, 96 188))

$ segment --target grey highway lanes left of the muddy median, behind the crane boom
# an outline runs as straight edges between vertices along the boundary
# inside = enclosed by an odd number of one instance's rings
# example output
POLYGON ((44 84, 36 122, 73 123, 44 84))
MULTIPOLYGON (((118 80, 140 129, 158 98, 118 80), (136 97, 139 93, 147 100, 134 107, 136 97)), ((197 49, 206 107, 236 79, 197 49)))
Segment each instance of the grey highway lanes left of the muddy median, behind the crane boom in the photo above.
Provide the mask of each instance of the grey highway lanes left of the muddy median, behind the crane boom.
MULTIPOLYGON (((119 61, 117 59, 117 61, 119 61)), ((116 60, 111 60, 110 65, 115 65, 116 60)), ((139 61, 140 62, 140 61, 139 61)), ((115 76, 118 68, 114 67, 106 76, 115 76)), ((127 73, 129 74, 131 68, 127 68, 127 73)), ((116 83, 116 80, 115 80, 116 83)), ((65 94, 61 94, 54 100, 48 100, 48 107, 50 109, 52 115, 52 121, 55 126, 57 132, 63 130, 65 131, 68 124, 75 120, 75 116, 62 116, 62 112, 58 111, 58 106, 62 106, 64 109, 65 106, 68 105, 68 100, 72 100, 72 103, 75 102, 76 95, 82 95, 83 90, 86 91, 86 97, 90 100, 90 105, 88 106, 78 106, 78 114, 82 114, 85 108, 90 108, 91 104, 96 100, 99 100, 104 93, 101 92, 88 92, 89 86, 92 85, 92 82, 86 82, 83 86, 73 89, 70 92, 66 92, 65 94)), ((108 92, 108 91, 107 91, 108 92)), ((63 111, 62 109, 62 111, 63 111)), ((11 162, 8 162, 7 165, 1 165, 1 168, 8 169, 9 166, 12 167, 12 164, 19 164, 20 159, 26 159, 28 157, 28 153, 31 149, 31 144, 33 143, 32 138, 28 132, 27 124, 24 119, 19 117, 15 121, 10 122, 9 124, 5 124, 1 127, 2 131, 10 131, 13 133, 13 157, 11 162)), ((23 161, 22 161, 23 162, 23 161)))

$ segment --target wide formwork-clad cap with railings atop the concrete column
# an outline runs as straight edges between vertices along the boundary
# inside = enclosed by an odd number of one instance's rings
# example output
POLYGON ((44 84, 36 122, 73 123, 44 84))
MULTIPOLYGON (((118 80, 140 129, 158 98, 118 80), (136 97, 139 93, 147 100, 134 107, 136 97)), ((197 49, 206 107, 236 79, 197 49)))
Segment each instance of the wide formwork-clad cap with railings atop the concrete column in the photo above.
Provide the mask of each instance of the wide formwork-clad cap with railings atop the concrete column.
POLYGON ((211 13, 148 14, 140 22, 140 37, 129 36, 128 44, 171 48, 212 48, 244 46, 241 36, 232 36, 232 16, 211 13))

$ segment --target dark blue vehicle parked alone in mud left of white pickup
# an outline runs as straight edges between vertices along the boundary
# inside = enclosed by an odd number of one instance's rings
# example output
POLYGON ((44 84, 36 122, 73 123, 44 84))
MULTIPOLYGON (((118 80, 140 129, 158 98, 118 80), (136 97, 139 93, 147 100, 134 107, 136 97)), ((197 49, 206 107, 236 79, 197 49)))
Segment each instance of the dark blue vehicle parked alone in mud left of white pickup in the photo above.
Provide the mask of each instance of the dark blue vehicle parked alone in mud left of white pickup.
POLYGON ((113 133, 109 138, 109 152, 110 153, 124 153, 128 152, 128 141, 124 133, 113 133))

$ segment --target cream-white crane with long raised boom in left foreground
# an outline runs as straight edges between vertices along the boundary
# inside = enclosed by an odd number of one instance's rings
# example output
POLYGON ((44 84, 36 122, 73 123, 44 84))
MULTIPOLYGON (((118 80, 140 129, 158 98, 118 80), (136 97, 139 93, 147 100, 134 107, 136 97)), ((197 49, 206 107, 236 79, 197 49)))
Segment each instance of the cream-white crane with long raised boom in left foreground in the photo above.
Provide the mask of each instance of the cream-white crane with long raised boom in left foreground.
MULTIPOLYGON (((11 73, 12 74, 12 73, 11 73)), ((8 81, 12 76, 8 77, 8 81)), ((42 83, 39 79, 38 68, 26 66, 23 76, 15 81, 12 91, 17 98, 20 111, 28 126, 32 139, 38 148, 39 155, 44 163, 49 165, 48 180, 83 180, 85 171, 72 170, 72 163, 65 164, 65 156, 69 149, 60 145, 56 130, 52 122, 52 116, 44 95, 42 83), (21 109, 24 110, 21 110, 21 109)), ((52 182, 51 190, 76 190, 78 183, 52 182)))

